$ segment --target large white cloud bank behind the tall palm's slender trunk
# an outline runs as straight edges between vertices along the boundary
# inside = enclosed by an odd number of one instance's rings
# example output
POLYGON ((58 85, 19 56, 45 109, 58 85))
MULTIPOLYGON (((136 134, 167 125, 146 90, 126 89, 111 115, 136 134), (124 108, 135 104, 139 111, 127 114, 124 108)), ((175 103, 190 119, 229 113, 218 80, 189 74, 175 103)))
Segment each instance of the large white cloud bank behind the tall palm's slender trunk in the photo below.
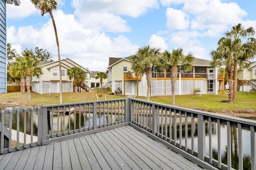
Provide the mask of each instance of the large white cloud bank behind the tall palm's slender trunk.
MULTIPOLYGON (((70 58, 91 70, 106 71, 109 57, 127 57, 136 53, 138 46, 124 36, 110 38, 104 32, 86 28, 72 14, 61 10, 53 13, 58 32, 61 58, 70 58)), ((45 24, 7 28, 8 42, 21 51, 38 46, 47 49, 57 60, 57 45, 49 19, 45 24), (20 46, 18 46, 20 44, 20 46)), ((17 50, 18 51, 18 50, 17 50)))

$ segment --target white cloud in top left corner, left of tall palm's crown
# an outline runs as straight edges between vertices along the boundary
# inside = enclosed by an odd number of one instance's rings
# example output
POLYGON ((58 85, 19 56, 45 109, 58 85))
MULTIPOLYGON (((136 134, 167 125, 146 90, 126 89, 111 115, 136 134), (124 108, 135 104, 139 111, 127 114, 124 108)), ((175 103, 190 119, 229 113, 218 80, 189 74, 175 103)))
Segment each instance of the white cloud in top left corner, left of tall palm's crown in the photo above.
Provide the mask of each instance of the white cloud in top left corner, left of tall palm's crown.
POLYGON ((21 19, 31 14, 40 14, 40 10, 36 9, 30 0, 21 0, 20 6, 14 4, 6 4, 7 18, 21 19))

